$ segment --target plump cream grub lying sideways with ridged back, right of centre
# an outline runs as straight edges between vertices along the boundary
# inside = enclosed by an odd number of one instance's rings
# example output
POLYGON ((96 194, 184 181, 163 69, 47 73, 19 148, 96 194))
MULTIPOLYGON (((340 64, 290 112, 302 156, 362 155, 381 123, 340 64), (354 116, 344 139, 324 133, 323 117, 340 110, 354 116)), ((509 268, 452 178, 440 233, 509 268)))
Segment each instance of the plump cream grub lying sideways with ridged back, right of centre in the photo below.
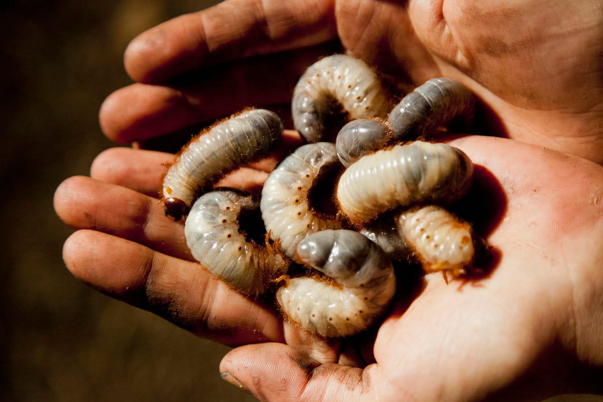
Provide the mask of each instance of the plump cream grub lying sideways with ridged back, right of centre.
POLYGON ((339 179, 337 200, 355 224, 416 203, 449 204, 472 183, 473 163, 460 149, 415 141, 366 155, 339 179))

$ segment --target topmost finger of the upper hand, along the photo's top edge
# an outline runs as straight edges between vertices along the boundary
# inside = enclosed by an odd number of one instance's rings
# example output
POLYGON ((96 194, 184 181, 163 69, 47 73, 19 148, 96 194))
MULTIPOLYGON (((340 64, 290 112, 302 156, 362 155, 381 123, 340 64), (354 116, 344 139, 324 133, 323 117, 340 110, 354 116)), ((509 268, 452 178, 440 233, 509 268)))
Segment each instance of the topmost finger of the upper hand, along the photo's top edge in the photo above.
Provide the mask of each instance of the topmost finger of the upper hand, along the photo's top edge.
POLYGON ((133 80, 156 83, 201 66, 335 37, 332 1, 229 0, 145 31, 128 46, 124 63, 133 80))

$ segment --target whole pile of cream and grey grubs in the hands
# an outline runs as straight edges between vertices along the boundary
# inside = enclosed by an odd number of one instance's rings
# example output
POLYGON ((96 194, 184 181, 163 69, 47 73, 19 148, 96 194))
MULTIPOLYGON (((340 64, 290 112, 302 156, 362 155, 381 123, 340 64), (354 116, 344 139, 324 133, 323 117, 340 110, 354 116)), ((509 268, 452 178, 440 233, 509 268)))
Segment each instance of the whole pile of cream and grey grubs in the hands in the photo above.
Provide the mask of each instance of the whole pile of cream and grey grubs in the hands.
POLYGON ((436 78, 395 107, 388 99, 364 62, 321 58, 292 98, 295 128, 308 143, 268 175, 259 201, 213 189, 279 143, 279 116, 248 109, 175 157, 163 183, 166 215, 188 215, 186 242, 209 272, 246 295, 275 297, 301 328, 328 338, 366 330, 393 300, 393 260, 420 262, 448 281, 448 274, 471 274, 485 250, 470 225, 445 209, 469 190, 471 160, 444 143, 417 140, 469 119, 472 93, 436 78), (326 142, 335 115, 345 119, 335 143, 326 142))

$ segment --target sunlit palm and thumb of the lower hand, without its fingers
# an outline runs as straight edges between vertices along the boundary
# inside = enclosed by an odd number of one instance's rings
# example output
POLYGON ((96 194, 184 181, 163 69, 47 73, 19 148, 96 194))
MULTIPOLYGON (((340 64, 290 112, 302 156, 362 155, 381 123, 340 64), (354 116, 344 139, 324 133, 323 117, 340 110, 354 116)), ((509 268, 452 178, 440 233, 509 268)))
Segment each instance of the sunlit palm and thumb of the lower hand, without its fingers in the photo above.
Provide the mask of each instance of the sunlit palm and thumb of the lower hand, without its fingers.
POLYGON ((478 166, 467 210, 489 232, 493 271, 449 284, 429 274, 414 292, 399 291, 374 344, 355 345, 372 347, 374 364, 324 364, 296 345, 260 343, 224 357, 230 382, 262 401, 541 401, 603 392, 603 168, 507 139, 451 145, 478 166))

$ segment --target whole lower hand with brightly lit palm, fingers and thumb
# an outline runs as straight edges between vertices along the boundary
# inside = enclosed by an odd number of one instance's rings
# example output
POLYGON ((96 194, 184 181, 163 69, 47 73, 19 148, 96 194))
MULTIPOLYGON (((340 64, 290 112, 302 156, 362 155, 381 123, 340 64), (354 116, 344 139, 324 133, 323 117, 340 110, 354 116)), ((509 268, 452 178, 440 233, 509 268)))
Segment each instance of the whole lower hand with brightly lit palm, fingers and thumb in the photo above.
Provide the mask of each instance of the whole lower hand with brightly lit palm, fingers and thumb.
MULTIPOLYGON (((465 217, 488 234, 499 259, 475 282, 429 274, 412 292, 402 284, 376 338, 304 336, 270 303, 192 262, 182 224, 153 198, 171 160, 161 152, 110 149, 92 178, 57 189, 58 215, 80 229, 65 243, 65 262, 105 294, 200 336, 246 345, 220 370, 260 400, 537 400, 600 387, 603 168, 494 137, 451 145, 478 166, 467 199, 474 215, 465 217)), ((248 171, 245 184, 237 175, 226 184, 253 187, 265 175, 248 171)))

